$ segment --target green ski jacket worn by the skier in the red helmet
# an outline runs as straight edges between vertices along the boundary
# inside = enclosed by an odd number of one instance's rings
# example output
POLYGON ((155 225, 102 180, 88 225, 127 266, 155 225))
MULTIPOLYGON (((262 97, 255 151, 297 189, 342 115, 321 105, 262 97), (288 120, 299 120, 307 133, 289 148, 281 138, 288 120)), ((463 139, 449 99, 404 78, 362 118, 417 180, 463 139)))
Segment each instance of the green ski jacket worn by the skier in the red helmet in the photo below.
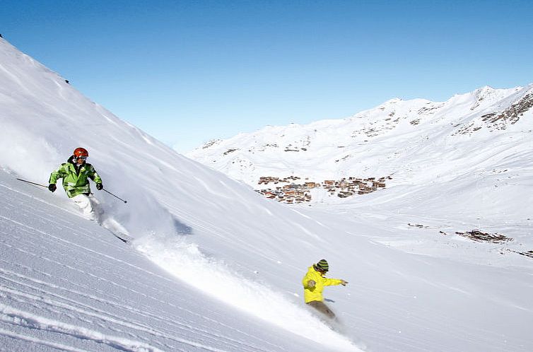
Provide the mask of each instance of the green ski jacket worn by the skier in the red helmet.
POLYGON ((93 165, 84 163, 76 170, 76 161, 71 156, 66 163, 61 164, 57 170, 50 174, 49 183, 55 184, 60 178, 63 179, 63 188, 69 198, 78 194, 90 194, 89 179, 95 183, 102 183, 102 179, 93 165))

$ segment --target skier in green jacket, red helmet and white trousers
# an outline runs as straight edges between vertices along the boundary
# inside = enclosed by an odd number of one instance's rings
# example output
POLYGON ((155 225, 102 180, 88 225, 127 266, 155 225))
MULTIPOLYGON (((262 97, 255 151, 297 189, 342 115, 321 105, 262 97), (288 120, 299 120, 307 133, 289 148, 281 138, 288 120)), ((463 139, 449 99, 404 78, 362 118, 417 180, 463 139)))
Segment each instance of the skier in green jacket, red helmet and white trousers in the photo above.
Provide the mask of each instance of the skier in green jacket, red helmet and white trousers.
POLYGON ((76 148, 74 154, 61 164, 57 170, 50 174, 48 189, 50 192, 56 190, 56 182, 63 179, 63 188, 66 195, 76 203, 83 214, 93 221, 98 221, 98 200, 90 192, 89 179, 96 183, 96 189, 103 189, 102 179, 96 172, 93 165, 86 163, 89 156, 85 148, 76 148))

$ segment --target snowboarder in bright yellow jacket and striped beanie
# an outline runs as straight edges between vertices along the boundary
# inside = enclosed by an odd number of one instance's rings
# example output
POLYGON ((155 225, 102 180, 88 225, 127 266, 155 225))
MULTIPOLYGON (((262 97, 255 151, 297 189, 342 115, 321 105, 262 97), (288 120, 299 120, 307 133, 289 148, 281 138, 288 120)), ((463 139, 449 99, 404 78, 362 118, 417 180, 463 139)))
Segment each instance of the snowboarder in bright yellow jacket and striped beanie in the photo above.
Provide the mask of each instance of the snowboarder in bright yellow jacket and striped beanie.
POLYGON ((317 264, 312 264, 312 266, 307 269, 307 274, 305 274, 302 279, 303 297, 305 303, 327 317, 334 319, 335 314, 324 303, 322 291, 324 291, 324 286, 346 286, 348 281, 341 280, 340 278, 326 278, 325 276, 328 270, 329 264, 327 264, 326 259, 321 259, 317 264))

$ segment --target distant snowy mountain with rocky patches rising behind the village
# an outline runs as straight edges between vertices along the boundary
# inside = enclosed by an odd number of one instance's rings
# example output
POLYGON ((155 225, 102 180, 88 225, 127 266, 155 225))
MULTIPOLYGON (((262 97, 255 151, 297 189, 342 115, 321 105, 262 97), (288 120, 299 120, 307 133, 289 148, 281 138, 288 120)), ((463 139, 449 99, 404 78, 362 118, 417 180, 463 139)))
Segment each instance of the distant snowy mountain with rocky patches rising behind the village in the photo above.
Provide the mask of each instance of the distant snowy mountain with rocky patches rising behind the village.
MULTIPOLYGON (((367 182, 381 178, 384 184, 365 184, 374 186, 368 191, 375 191, 402 184, 448 183, 480 173, 505 178, 513 172, 506 165, 524 161, 533 152, 532 107, 533 85, 484 87, 445 102, 392 99, 346 119, 270 126, 211 141, 188 156, 255 189, 273 189, 268 182, 272 180, 323 184, 349 177, 367 182)), ((472 181, 476 180, 474 176, 472 181)), ((338 200, 338 192, 318 193, 310 193, 307 200, 338 200)))

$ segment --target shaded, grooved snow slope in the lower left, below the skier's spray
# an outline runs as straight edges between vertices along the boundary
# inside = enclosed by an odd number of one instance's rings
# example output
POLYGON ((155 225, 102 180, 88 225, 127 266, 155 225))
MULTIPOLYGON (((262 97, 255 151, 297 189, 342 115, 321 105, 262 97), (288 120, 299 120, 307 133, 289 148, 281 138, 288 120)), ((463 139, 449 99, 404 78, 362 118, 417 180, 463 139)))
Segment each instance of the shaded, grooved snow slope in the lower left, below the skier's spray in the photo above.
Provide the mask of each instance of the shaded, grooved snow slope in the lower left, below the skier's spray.
POLYGON ((176 280, 68 201, 6 172, 0 209, 0 351, 316 346, 176 280))

